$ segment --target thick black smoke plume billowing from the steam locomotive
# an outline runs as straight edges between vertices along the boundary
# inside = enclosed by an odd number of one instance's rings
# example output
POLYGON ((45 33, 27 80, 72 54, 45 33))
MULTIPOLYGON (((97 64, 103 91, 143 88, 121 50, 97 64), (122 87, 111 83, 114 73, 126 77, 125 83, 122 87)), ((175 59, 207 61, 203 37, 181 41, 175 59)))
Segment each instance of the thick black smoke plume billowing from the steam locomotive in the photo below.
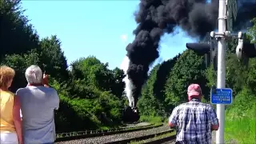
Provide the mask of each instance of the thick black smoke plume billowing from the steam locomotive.
MULTIPOLYGON (((238 2, 237 26, 255 17, 255 0, 238 2)), ((134 42, 126 46, 130 58, 128 78, 134 85, 134 106, 137 105, 142 85, 150 64, 158 58, 158 42, 162 34, 172 33, 179 26, 191 37, 204 38, 218 28, 218 0, 141 0, 135 13, 138 27, 134 42)))

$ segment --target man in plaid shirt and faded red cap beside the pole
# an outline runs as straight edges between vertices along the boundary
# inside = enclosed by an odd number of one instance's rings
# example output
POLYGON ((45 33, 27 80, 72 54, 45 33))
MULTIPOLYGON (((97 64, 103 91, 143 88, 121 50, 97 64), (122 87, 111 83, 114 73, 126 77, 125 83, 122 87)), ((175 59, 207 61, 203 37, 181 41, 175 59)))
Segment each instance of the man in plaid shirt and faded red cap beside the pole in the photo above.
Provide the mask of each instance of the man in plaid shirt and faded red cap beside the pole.
POLYGON ((198 84, 188 87, 189 102, 174 108, 169 126, 176 126, 176 143, 210 144, 211 131, 218 130, 217 114, 212 106, 201 102, 202 90, 198 84))

